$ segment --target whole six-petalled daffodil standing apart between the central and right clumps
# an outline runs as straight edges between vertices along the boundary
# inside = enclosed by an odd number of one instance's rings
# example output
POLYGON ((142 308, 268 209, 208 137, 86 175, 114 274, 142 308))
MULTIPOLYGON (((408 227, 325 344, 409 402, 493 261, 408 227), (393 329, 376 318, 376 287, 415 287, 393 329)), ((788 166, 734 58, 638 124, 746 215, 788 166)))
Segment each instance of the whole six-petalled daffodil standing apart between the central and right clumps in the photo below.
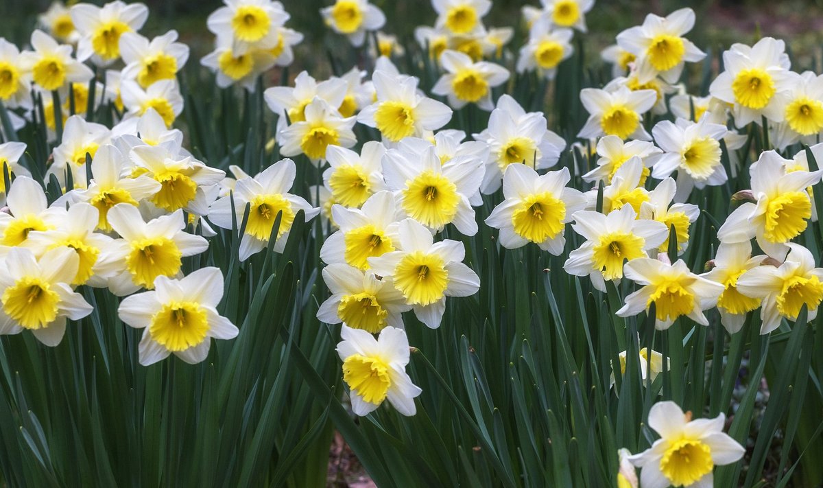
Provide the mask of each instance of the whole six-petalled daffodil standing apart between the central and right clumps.
POLYGON ((486 218, 486 225, 500 229, 500 245, 509 249, 534 242, 555 256, 563 253, 565 224, 583 210, 586 197, 568 188, 569 169, 537 175, 522 164, 506 168, 501 204, 486 218))

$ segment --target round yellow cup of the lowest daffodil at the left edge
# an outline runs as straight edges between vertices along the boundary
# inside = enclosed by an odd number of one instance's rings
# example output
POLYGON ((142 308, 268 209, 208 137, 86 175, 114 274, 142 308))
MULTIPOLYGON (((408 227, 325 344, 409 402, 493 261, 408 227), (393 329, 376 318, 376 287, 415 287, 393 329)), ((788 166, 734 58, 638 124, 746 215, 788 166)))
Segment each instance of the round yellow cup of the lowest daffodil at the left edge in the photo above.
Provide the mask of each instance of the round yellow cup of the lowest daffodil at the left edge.
POLYGON ((26 329, 48 327, 57 318, 60 296, 43 279, 18 280, 2 294, 2 310, 26 329))

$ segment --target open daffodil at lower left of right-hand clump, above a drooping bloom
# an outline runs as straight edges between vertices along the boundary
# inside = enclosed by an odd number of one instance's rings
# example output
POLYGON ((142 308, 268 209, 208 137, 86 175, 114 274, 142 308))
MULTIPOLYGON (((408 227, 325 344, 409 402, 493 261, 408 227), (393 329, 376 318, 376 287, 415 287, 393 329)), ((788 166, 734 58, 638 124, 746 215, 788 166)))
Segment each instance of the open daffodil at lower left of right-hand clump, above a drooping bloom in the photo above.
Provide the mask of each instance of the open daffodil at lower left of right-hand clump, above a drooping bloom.
POLYGON ((668 229, 654 220, 638 219, 631 205, 607 214, 581 210, 572 215, 572 228, 586 239, 569 254, 563 269, 575 276, 588 276, 595 288, 606 291, 605 281, 623 277, 626 260, 644 258, 660 246, 668 229))

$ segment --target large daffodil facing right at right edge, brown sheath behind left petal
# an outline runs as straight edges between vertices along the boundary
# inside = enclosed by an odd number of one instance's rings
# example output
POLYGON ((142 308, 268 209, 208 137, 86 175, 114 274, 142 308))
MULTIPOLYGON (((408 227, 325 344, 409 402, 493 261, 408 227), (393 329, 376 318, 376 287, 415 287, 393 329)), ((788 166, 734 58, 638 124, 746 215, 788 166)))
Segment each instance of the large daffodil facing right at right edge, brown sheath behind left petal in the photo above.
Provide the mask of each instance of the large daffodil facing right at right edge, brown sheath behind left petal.
POLYGON ((751 195, 756 203, 737 207, 718 229, 720 242, 744 242, 756 237, 766 254, 783 260, 787 242, 806 230, 811 219, 807 188, 821 180, 821 172, 786 171, 777 152, 765 151, 751 165, 751 195))

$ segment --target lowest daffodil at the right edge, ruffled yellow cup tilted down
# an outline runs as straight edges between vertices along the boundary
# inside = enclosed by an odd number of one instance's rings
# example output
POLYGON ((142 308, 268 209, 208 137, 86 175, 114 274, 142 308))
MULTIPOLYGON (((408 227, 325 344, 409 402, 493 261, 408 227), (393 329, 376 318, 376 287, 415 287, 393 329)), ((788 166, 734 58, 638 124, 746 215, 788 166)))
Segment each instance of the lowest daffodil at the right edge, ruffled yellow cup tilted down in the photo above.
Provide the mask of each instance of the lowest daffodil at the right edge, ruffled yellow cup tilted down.
POLYGON ((799 244, 788 244, 789 252, 782 265, 760 265, 737 279, 737 290, 746 297, 763 300, 760 308, 760 334, 780 326, 780 318, 797 320, 805 305, 808 320, 817 317, 823 301, 823 268, 815 267, 811 251, 799 244))

